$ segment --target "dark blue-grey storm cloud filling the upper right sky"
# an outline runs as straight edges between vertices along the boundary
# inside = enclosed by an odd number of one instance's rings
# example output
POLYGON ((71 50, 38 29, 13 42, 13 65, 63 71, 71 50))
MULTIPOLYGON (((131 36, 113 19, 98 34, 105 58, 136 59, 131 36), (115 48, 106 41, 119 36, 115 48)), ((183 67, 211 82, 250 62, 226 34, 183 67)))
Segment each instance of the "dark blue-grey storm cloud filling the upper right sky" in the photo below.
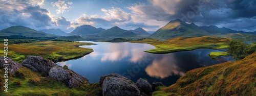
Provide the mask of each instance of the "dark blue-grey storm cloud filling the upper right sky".
POLYGON ((256 31, 256 1, 251 0, 151 0, 150 5, 134 5, 133 13, 149 19, 182 19, 199 26, 215 25, 233 30, 256 31), (250 25, 249 25, 250 24, 250 25))

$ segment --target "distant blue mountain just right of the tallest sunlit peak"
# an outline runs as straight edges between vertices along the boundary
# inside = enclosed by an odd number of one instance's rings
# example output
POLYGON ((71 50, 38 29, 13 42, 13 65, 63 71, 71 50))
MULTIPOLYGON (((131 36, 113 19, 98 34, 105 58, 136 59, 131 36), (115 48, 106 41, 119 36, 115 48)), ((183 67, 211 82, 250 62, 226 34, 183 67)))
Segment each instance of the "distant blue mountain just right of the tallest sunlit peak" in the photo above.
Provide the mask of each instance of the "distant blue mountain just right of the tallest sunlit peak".
POLYGON ((228 29, 228 28, 218 28, 216 26, 203 26, 203 27, 200 27, 201 29, 207 31, 208 33, 212 34, 212 35, 215 35, 215 34, 230 34, 230 33, 243 33, 243 31, 234 31, 234 30, 231 30, 231 29, 228 29))

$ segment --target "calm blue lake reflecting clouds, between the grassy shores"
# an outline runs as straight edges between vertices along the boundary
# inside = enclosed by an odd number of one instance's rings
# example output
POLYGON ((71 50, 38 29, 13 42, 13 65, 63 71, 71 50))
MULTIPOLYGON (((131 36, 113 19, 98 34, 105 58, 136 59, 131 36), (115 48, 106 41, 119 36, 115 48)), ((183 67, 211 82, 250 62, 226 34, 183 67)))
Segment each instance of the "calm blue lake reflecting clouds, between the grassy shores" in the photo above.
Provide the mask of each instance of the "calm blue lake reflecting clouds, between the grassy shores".
POLYGON ((210 52, 219 50, 198 49, 169 54, 151 54, 143 51, 155 49, 155 46, 144 43, 111 43, 93 42, 86 45, 94 52, 82 58, 58 62, 86 77, 90 83, 99 82, 102 75, 117 73, 136 82, 145 78, 149 83, 162 82, 169 86, 174 84, 187 71, 203 66, 220 63, 211 59, 210 52))

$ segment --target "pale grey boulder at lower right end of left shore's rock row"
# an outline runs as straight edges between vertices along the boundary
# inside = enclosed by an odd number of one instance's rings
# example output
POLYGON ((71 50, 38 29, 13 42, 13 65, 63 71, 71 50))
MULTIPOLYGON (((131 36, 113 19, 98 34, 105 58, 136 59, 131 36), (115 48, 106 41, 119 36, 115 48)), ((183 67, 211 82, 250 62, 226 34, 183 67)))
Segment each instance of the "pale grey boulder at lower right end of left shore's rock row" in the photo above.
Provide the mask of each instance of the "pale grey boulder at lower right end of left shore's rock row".
POLYGON ((54 78, 58 81, 64 82, 70 88, 80 86, 80 84, 89 84, 89 81, 86 78, 72 70, 64 69, 59 65, 50 69, 49 78, 54 78))

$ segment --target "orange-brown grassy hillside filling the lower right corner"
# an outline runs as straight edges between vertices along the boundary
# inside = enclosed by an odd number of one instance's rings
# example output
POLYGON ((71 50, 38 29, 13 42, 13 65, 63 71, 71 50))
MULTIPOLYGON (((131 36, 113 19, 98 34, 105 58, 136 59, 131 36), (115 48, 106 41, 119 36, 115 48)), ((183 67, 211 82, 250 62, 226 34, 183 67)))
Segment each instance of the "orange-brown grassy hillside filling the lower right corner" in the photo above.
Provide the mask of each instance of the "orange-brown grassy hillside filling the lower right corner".
POLYGON ((154 95, 256 95, 256 53, 188 71, 175 84, 154 95))

